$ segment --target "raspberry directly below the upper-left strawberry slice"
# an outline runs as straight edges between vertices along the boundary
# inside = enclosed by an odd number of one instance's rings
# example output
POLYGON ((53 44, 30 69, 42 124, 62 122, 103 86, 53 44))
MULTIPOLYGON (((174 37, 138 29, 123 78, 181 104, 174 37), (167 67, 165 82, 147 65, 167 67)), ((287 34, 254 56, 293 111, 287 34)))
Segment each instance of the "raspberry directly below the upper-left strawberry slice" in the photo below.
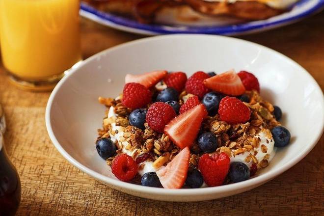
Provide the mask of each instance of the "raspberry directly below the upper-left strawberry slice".
POLYGON ((125 84, 122 103, 127 108, 141 108, 150 103, 152 93, 144 85, 130 82, 125 84))

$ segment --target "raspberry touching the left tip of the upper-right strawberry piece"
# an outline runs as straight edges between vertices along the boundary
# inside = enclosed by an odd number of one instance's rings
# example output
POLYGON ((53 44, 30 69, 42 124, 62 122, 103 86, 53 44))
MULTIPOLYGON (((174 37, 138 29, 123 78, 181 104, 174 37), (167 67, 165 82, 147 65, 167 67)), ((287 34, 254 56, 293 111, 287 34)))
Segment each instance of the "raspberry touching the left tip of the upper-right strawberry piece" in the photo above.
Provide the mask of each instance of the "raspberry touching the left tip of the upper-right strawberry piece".
POLYGON ((210 78, 210 76, 202 71, 194 73, 186 82, 186 91, 202 98, 210 91, 203 83, 203 81, 208 78, 210 78))

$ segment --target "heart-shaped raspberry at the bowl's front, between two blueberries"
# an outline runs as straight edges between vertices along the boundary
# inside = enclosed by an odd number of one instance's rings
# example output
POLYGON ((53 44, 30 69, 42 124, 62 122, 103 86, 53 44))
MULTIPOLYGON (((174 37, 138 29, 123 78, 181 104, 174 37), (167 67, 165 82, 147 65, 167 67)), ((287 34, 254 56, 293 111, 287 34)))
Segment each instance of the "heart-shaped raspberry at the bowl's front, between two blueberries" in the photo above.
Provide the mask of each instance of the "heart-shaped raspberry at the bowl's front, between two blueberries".
POLYGON ((230 166, 230 158, 225 153, 204 154, 200 157, 198 167, 209 187, 223 184, 230 166))

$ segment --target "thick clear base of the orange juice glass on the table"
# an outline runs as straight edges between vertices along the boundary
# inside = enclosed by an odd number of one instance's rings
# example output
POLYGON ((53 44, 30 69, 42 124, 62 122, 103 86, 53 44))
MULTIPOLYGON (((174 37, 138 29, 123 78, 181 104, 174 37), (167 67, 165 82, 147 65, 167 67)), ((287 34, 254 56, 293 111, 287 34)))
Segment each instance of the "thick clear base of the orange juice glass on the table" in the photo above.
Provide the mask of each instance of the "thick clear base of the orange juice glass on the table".
POLYGON ((80 65, 81 61, 77 62, 70 69, 64 71, 61 74, 54 75, 54 76, 51 76, 48 78, 44 78, 42 80, 27 80, 27 79, 17 77, 16 75, 10 73, 10 71, 8 71, 8 70, 6 70, 6 72, 7 72, 9 81, 22 90, 51 91, 54 89, 57 82, 60 81, 64 77, 64 75, 66 75, 71 69, 78 67, 80 65))

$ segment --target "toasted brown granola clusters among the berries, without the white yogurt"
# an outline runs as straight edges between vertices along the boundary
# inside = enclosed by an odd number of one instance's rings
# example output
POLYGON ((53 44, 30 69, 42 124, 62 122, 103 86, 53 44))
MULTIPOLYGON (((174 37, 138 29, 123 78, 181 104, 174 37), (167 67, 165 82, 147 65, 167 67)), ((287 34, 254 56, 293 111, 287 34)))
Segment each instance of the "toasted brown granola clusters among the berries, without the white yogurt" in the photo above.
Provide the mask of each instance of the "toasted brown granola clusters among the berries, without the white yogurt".
MULTIPOLYGON (((229 157, 249 152, 245 158, 245 162, 253 161, 257 164, 258 168, 264 168, 269 163, 269 154, 264 156, 262 161, 258 161, 255 155, 258 153, 256 148, 260 147, 260 137, 255 135, 262 131, 267 134, 267 141, 272 141, 270 130, 279 126, 280 123, 273 116, 273 106, 264 100, 257 91, 246 91, 250 102, 244 104, 251 110, 251 118, 248 122, 243 124, 228 124, 219 120, 219 115, 208 116, 202 123, 202 132, 212 132, 216 135, 218 141, 218 148, 216 153, 226 153, 229 157)), ((192 97, 183 91, 180 94, 180 104, 183 104, 192 97)), ((152 161, 154 168, 159 168, 167 164, 172 158, 179 153, 180 149, 170 140, 166 134, 157 133, 151 130, 147 123, 144 124, 145 129, 140 130, 129 124, 129 114, 132 109, 126 108, 121 103, 121 97, 118 99, 102 98, 99 97, 99 103, 107 107, 105 118, 103 119, 103 127, 98 130, 98 139, 103 137, 110 137, 120 132, 123 136, 119 137, 119 141, 115 141, 117 147, 116 155, 107 159, 107 164, 110 165, 112 160, 118 155, 123 153, 123 148, 132 151, 132 157, 136 160, 138 157, 145 156, 145 161, 152 161), (113 107, 116 115, 108 117, 108 110, 113 107), (120 126, 119 130, 113 130, 112 124, 120 126), (121 142, 127 141, 128 145, 123 146, 121 142)), ((265 145, 261 146, 262 152, 267 153, 268 149, 265 145)), ((194 143, 190 149, 191 155, 189 166, 197 168, 199 157, 203 154, 200 151, 197 143, 194 143)), ((139 166, 142 170, 145 163, 139 166)))

